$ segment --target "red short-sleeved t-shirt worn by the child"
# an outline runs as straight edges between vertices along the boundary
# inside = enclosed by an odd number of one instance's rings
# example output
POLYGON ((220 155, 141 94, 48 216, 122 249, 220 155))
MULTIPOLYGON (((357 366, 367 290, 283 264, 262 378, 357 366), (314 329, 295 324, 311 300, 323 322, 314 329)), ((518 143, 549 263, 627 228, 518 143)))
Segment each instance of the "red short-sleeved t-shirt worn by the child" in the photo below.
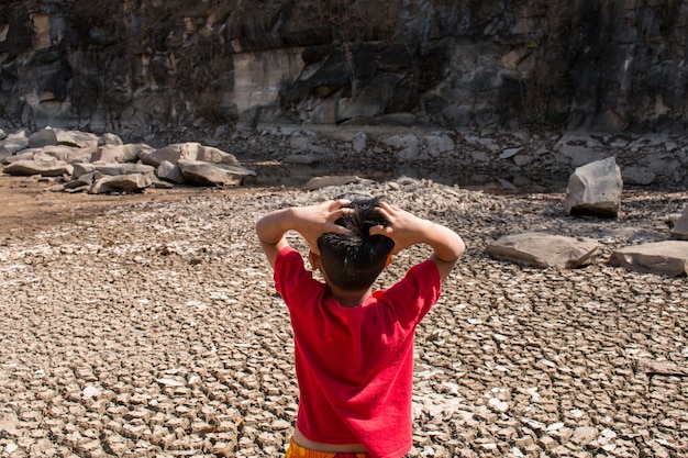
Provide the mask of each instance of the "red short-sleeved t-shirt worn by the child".
POLYGON ((412 267, 389 289, 345 308, 313 279, 293 248, 279 253, 275 287, 293 329, 299 431, 311 440, 366 446, 397 458, 412 442, 411 391, 417 324, 437 301, 433 261, 412 267))

